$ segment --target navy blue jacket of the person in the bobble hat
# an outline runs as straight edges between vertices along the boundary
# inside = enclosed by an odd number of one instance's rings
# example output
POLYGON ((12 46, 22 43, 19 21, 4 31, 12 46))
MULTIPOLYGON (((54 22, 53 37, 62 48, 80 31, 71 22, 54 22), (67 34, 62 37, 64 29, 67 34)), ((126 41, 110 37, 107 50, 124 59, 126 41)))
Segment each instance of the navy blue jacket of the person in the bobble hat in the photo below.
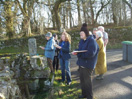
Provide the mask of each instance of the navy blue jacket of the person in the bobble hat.
POLYGON ((88 50, 87 52, 78 53, 77 65, 85 68, 94 69, 97 63, 99 46, 93 36, 89 36, 85 41, 80 40, 78 50, 88 50))

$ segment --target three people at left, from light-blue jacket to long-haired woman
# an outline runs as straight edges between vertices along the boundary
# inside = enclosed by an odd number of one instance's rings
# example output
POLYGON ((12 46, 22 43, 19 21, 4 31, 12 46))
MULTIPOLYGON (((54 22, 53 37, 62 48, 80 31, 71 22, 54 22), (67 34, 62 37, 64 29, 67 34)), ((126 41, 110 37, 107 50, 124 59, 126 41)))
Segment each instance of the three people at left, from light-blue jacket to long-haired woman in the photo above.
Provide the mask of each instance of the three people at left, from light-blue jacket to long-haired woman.
POLYGON ((47 44, 45 47, 41 47, 45 50, 45 57, 47 58, 47 65, 49 66, 51 73, 54 74, 55 70, 61 66, 62 82, 66 82, 67 85, 71 84, 71 72, 70 72, 70 48, 71 37, 67 32, 63 32, 60 41, 56 34, 48 32, 45 35, 47 44), (66 75, 66 77, 65 77, 66 75))

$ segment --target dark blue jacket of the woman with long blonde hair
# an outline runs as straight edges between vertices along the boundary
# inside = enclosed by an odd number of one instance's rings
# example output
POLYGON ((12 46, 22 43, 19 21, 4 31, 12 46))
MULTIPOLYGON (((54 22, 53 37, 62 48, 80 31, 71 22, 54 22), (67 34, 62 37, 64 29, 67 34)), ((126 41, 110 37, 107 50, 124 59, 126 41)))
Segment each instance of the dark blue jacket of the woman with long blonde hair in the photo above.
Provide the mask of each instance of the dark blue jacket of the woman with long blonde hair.
MULTIPOLYGON (((62 42, 59 43, 59 46, 61 46, 61 43, 62 42)), ((69 42, 65 42, 65 44, 63 45, 63 47, 60 49, 60 51, 62 51, 62 55, 61 55, 61 53, 59 53, 58 58, 59 59, 62 58, 64 60, 70 59, 71 58, 71 56, 69 54, 70 53, 70 48, 71 48, 70 43, 69 42)))

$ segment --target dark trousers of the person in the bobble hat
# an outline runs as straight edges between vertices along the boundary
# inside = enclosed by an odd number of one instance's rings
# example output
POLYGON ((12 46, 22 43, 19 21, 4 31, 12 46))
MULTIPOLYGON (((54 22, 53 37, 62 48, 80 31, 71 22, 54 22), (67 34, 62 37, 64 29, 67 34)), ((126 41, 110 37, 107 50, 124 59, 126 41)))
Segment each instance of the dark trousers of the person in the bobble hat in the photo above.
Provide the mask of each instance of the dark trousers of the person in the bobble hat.
POLYGON ((93 99, 92 69, 79 67, 82 95, 87 99, 93 99))

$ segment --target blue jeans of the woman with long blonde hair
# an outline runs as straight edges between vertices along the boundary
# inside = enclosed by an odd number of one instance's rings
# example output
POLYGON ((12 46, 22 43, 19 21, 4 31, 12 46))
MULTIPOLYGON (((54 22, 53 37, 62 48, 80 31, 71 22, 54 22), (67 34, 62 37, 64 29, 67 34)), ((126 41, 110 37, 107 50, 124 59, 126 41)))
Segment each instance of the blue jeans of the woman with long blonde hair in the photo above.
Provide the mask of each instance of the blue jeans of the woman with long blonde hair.
POLYGON ((70 72, 70 61, 69 60, 64 60, 60 59, 60 65, 61 65, 61 72, 62 72, 62 81, 65 81, 65 74, 66 74, 66 79, 67 83, 71 82, 71 72, 70 72))

